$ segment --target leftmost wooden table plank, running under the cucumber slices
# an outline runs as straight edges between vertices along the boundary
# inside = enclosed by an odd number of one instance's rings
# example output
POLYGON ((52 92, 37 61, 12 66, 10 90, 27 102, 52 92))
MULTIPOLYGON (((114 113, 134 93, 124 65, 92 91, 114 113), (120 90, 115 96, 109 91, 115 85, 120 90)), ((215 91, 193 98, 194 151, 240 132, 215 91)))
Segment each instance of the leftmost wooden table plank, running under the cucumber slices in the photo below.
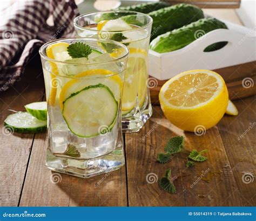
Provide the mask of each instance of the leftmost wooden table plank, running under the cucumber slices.
POLYGON ((1 163, 0 163, 0 206, 17 206, 21 195, 34 134, 10 133, 3 127, 4 119, 11 110, 25 111, 24 105, 42 101, 44 94, 42 69, 31 60, 26 66, 21 81, 0 95, 1 119, 1 163), (36 84, 35 84, 36 82, 36 84), (40 90, 38 86, 41 86, 40 90))

